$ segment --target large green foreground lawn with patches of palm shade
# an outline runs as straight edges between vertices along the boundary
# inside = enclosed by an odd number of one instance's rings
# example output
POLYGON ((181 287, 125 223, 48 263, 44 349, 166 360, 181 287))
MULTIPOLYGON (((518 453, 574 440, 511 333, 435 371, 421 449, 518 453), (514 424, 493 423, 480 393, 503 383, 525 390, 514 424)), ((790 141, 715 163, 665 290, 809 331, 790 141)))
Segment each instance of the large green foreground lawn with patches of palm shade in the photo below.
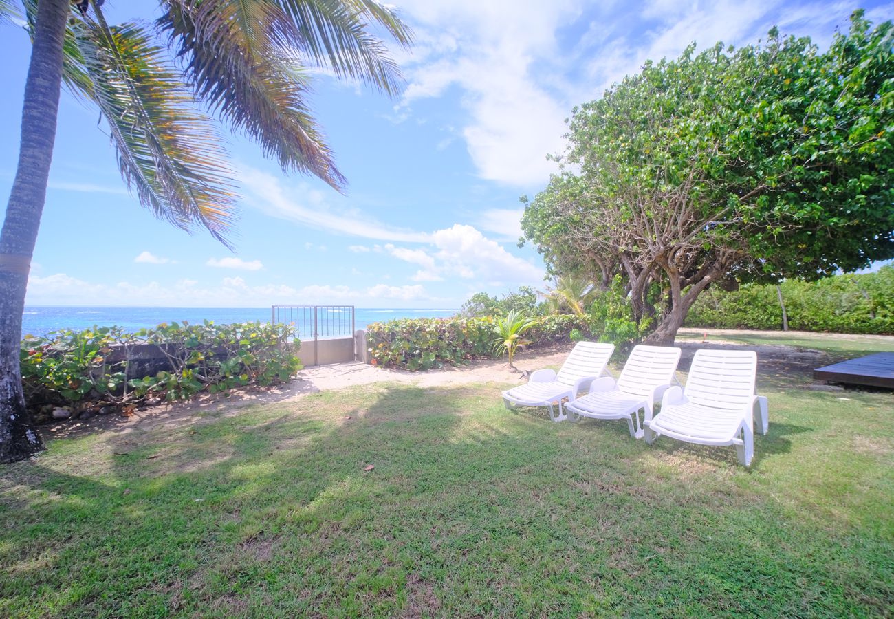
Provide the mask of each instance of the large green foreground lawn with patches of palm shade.
POLYGON ((746 470, 501 387, 52 441, 0 470, 0 616, 890 615, 891 394, 762 383, 746 470))

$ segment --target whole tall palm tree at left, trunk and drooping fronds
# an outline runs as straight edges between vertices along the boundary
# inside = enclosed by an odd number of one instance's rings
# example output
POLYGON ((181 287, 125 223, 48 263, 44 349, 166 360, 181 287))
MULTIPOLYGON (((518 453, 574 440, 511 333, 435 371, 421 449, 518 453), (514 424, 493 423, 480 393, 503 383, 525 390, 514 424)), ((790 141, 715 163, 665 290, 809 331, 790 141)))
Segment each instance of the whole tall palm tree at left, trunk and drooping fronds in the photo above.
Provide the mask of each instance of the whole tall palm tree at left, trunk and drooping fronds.
POLYGON ((19 164, 0 232, 0 462, 42 449, 21 392, 19 345, 31 255, 46 199, 60 88, 97 106, 124 181, 156 216, 183 230, 227 233, 237 200, 210 111, 255 140, 283 171, 345 179, 308 107, 308 68, 401 89, 381 29, 411 33, 375 0, 159 0, 155 28, 110 26, 103 0, 0 0, 0 21, 33 41, 19 164), (200 104, 197 106, 196 104, 200 104))

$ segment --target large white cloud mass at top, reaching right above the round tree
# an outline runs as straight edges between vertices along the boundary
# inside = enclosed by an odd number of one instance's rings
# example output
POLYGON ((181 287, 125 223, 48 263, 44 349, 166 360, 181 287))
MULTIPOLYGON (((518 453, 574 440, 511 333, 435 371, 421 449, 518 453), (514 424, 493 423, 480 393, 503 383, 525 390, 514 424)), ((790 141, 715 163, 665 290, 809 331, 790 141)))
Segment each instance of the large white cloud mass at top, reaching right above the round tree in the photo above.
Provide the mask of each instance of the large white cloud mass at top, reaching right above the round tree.
MULTIPOLYGON (((555 170, 572 106, 602 96, 647 59, 675 57, 692 41, 754 43, 772 25, 828 44, 847 30, 856 0, 651 0, 639 4, 554 0, 403 0, 413 55, 398 55, 409 85, 399 111, 458 89, 467 117, 460 134, 482 178, 520 187, 555 170)), ((870 17, 890 15, 890 4, 870 17), (886 13, 887 11, 887 13, 886 13)), ((874 12, 874 13, 873 13, 874 12)), ((443 148, 444 143, 436 148, 443 148)))

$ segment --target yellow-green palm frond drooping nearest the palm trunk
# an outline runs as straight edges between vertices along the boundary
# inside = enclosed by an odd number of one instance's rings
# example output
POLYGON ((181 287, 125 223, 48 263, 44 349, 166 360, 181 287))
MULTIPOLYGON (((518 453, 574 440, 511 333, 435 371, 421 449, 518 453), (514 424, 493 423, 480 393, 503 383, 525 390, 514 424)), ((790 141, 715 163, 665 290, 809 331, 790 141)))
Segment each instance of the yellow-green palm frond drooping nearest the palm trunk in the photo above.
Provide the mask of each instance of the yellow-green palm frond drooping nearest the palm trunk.
POLYGON ((109 125, 118 167, 140 203, 183 230, 197 225, 227 247, 232 172, 214 123, 148 30, 75 20, 67 83, 94 101, 109 125))

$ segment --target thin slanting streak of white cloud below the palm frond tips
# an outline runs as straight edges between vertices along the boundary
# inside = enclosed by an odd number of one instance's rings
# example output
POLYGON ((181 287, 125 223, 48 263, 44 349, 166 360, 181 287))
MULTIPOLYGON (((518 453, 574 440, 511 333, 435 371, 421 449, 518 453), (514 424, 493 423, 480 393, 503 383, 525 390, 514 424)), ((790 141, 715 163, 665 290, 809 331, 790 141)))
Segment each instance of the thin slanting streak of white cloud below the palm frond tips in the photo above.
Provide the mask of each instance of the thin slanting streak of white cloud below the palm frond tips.
POLYGON ((335 210, 322 191, 301 182, 296 189, 283 189, 280 179, 243 166, 240 181, 248 191, 246 199, 269 216, 308 225, 319 230, 398 242, 425 242, 427 235, 380 224, 357 209, 335 210))

